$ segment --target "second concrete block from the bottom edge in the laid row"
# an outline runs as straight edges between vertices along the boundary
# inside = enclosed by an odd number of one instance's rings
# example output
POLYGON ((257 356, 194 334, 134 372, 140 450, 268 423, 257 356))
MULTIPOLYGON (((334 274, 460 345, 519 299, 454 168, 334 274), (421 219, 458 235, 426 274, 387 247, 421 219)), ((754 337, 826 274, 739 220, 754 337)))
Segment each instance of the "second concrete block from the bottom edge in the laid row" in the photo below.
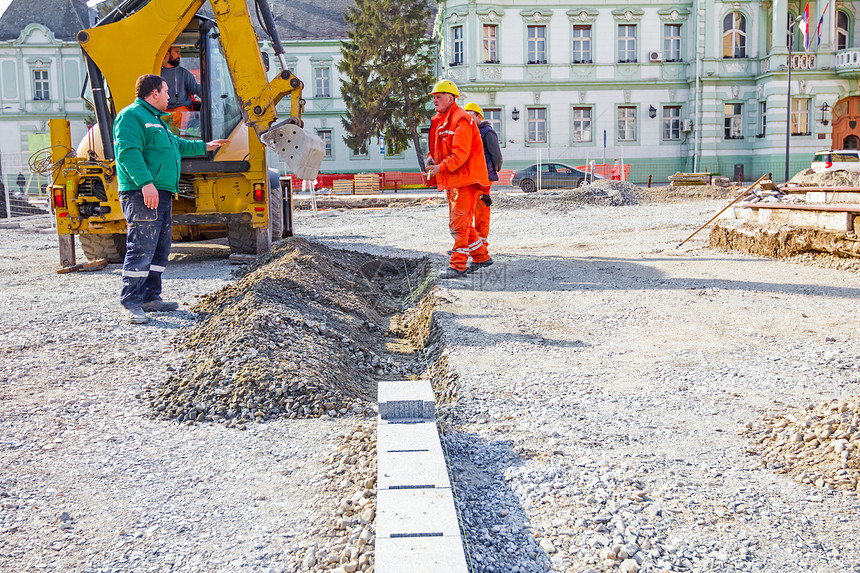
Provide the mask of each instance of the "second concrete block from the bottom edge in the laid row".
POLYGON ((380 489, 376 494, 376 538, 459 537, 450 489, 380 489))

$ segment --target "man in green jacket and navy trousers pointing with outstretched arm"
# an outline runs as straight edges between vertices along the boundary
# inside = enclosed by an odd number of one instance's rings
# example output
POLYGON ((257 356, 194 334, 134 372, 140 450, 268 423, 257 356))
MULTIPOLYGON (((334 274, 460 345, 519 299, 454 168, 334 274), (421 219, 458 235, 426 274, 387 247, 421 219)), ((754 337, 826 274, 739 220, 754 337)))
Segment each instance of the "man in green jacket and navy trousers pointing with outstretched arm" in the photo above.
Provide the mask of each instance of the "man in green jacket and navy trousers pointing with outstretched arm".
POLYGON ((145 311, 176 310, 161 299, 161 273, 170 255, 173 236, 171 202, 179 186, 182 157, 203 155, 229 143, 208 143, 175 136, 161 118, 170 93, 160 76, 137 78, 137 98, 114 122, 116 171, 122 212, 128 221, 122 264, 122 314, 131 324, 149 321, 145 311))

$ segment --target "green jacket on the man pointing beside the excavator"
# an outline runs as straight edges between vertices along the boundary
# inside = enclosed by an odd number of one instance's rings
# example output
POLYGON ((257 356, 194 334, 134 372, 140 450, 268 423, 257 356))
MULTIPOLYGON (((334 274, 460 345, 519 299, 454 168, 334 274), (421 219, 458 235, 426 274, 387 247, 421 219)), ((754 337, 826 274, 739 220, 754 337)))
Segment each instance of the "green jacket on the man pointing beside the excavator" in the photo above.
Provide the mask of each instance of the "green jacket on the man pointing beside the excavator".
POLYGON ((140 98, 116 116, 113 139, 120 193, 148 183, 176 193, 180 158, 206 153, 204 141, 174 135, 161 119, 161 112, 140 98))

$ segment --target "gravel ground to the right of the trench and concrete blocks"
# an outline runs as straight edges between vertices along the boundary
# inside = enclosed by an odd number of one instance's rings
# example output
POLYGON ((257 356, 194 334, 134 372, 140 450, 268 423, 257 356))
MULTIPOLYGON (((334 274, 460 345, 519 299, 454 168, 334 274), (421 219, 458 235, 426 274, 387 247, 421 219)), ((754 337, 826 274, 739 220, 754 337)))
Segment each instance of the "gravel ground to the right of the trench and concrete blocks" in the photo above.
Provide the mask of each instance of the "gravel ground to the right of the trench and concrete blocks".
MULTIPOLYGON (((715 252, 707 231, 673 249, 724 201, 521 199, 493 212, 496 264, 439 295, 474 570, 860 571, 857 493, 775 472, 743 435, 860 393, 860 274, 715 252)), ((329 212, 298 229, 414 257, 450 247, 446 214, 329 212)))

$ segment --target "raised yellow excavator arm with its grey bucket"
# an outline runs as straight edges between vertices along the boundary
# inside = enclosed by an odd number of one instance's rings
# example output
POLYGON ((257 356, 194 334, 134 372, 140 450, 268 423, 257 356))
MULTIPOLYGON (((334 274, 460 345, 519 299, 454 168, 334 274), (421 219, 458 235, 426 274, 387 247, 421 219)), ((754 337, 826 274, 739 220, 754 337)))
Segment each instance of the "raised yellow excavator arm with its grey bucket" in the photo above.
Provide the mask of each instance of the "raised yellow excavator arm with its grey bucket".
MULTIPOLYGON (((325 153, 322 140, 302 127, 301 80, 287 69, 268 0, 209 0, 218 23, 221 46, 245 123, 273 149, 299 178, 314 179, 325 153), (272 36, 281 71, 271 80, 251 22, 249 5, 256 8, 272 36), (277 104, 290 97, 290 116, 278 120, 277 104)), ((143 74, 158 74, 170 45, 188 26, 205 0, 126 0, 93 28, 78 33, 88 59, 102 140, 110 140, 113 117, 105 102, 99 105, 99 76, 110 78, 115 110, 134 101, 134 85, 143 74), (101 113, 100 113, 101 111, 101 113), (107 121, 105 121, 107 120, 107 121)), ((106 155, 112 150, 105 147, 106 155)), ((107 157, 112 158, 112 157, 107 157)))

